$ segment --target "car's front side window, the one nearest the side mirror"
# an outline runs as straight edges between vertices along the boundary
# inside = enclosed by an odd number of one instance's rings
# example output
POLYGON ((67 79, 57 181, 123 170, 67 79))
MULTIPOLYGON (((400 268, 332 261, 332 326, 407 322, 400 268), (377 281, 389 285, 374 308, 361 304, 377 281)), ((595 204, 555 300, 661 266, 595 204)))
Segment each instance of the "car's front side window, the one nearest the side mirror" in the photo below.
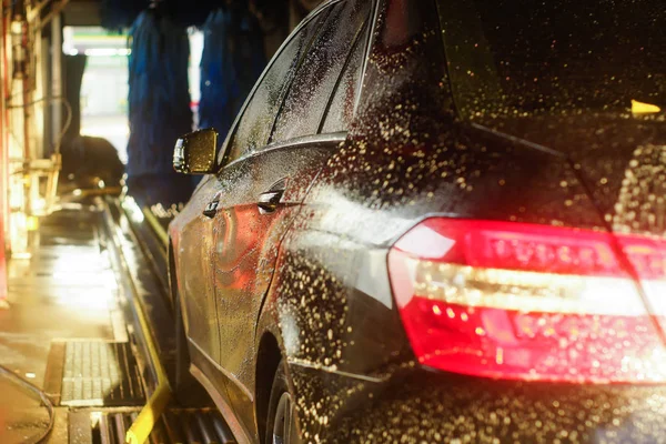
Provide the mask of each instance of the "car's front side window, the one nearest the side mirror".
POLYGON ((275 114, 299 67, 299 61, 320 29, 321 20, 326 16, 327 12, 324 11, 313 18, 293 36, 284 50, 272 61, 239 123, 231 142, 229 161, 252 153, 268 143, 275 114))

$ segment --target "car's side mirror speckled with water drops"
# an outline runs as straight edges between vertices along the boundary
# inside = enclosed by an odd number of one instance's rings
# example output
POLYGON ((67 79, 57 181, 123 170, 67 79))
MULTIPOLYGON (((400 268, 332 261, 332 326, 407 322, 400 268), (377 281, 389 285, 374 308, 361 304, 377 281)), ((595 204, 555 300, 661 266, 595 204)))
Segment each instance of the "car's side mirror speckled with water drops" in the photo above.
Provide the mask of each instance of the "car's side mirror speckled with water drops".
POLYGON ((199 130, 183 135, 173 149, 173 169, 183 174, 212 174, 218 157, 218 131, 199 130))

